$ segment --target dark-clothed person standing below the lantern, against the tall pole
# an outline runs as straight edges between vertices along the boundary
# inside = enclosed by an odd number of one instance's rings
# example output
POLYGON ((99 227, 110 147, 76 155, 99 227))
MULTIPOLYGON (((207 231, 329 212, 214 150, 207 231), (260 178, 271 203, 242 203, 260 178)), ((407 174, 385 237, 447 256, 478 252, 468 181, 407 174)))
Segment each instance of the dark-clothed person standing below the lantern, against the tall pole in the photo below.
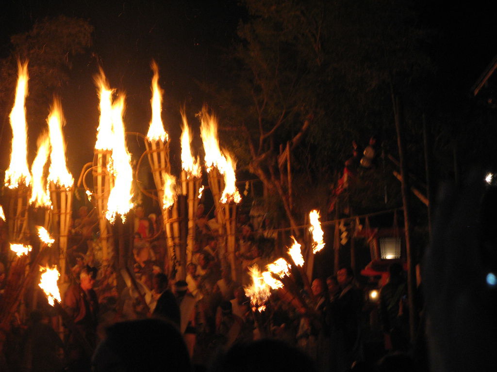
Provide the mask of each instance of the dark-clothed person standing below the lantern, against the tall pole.
POLYGON ((405 306, 407 282, 403 271, 400 263, 392 263, 388 268, 388 283, 380 290, 380 321, 394 351, 407 351, 409 347, 409 316, 405 306))

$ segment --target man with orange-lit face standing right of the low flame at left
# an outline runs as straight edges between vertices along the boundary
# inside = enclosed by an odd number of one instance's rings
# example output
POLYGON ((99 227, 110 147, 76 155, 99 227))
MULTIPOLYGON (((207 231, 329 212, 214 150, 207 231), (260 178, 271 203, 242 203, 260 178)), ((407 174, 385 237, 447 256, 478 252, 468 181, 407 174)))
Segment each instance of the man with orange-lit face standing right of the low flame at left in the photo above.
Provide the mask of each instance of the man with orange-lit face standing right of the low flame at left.
POLYGON ((75 325, 67 348, 72 371, 87 371, 90 362, 87 349, 96 346, 98 299, 93 290, 95 277, 96 269, 86 266, 80 273, 80 282, 69 287, 64 297, 64 310, 75 325), (82 343, 86 343, 86 347, 82 343))

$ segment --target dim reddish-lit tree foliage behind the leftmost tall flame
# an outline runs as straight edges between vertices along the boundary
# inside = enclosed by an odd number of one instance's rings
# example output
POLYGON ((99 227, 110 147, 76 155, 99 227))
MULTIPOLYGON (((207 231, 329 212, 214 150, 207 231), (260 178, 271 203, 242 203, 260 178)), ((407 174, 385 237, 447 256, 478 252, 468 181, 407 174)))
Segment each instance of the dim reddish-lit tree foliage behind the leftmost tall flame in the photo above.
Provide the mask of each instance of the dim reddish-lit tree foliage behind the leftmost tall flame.
POLYGON ((14 100, 17 60, 29 61, 26 106, 29 124, 40 128, 48 116, 53 95, 69 79, 72 59, 91 46, 92 32, 93 27, 86 20, 61 15, 40 20, 30 31, 11 37, 10 55, 0 60, 3 127, 8 126, 8 114, 14 100))

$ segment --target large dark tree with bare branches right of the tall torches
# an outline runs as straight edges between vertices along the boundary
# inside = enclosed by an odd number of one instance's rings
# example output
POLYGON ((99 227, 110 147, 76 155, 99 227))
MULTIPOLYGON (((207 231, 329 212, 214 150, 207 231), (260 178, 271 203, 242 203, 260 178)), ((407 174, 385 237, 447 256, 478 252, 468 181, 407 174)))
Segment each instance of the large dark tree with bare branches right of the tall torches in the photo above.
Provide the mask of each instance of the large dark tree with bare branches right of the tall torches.
MULTIPOLYGON (((297 201, 309 200, 335 177, 352 140, 366 145, 376 135, 394 147, 392 88, 409 93, 431 69, 420 47, 427 33, 418 27, 411 1, 244 4, 248 18, 239 26, 230 60, 238 63, 237 70, 231 89, 218 98, 225 122, 246 133, 241 138, 239 131, 228 132, 237 133, 231 136, 237 143, 247 141, 239 158, 278 190, 283 204, 289 185, 280 151, 287 142, 295 144, 291 163, 297 201), (299 141, 293 142, 296 137, 299 141)), ((286 208, 295 222, 302 218, 298 204, 286 208)))

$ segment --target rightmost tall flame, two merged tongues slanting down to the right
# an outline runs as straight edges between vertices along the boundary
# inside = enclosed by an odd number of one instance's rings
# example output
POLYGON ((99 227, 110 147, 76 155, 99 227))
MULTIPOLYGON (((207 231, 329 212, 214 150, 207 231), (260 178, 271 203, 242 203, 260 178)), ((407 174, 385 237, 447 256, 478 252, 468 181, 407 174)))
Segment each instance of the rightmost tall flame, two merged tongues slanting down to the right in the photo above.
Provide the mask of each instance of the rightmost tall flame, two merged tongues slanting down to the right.
POLYGON ((224 176, 225 188, 221 196, 221 203, 234 201, 239 203, 242 200, 240 193, 235 186, 235 161, 227 151, 226 156, 223 155, 219 148, 219 140, 217 136, 217 118, 207 112, 204 107, 202 109, 202 117, 200 121, 200 136, 204 144, 205 150, 205 166, 207 172, 210 172, 214 167, 219 170, 224 176))

